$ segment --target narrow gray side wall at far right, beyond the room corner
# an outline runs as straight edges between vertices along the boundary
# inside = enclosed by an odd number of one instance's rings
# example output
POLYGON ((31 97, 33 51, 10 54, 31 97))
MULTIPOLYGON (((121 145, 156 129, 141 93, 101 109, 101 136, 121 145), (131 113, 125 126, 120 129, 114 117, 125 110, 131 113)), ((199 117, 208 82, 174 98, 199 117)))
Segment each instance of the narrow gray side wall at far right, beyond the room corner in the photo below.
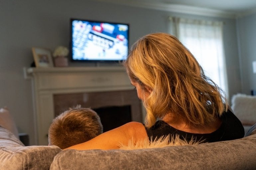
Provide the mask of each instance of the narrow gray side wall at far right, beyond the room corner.
POLYGON ((256 61, 256 14, 237 19, 239 60, 242 77, 242 93, 256 90, 256 74, 252 62, 256 61))

